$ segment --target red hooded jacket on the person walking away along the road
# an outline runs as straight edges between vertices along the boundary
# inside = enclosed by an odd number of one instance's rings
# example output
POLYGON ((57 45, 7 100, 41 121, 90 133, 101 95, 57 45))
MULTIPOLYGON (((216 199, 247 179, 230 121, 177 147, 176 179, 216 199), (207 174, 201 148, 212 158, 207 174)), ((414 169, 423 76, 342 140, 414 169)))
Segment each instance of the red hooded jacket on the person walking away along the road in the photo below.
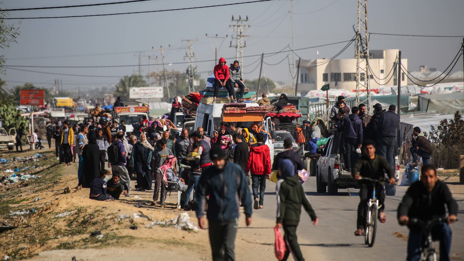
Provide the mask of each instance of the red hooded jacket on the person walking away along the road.
POLYGON ((245 172, 248 171, 255 175, 271 173, 271 153, 266 144, 257 143, 251 145, 245 172))

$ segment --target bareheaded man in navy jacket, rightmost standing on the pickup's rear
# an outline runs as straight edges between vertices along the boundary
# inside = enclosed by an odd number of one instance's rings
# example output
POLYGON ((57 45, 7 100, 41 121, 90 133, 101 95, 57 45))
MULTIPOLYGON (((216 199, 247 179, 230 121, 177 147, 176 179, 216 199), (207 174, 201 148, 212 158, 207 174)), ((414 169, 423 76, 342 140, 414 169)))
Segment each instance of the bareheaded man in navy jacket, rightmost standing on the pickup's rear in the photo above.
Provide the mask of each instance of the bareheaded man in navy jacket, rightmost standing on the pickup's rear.
MULTIPOLYGON (((395 113, 396 106, 390 105, 388 111, 380 117, 379 131, 379 149, 380 155, 387 159, 388 164, 393 168, 393 150, 395 149, 396 132, 400 123, 400 116, 395 113)), ((375 135, 375 134, 373 134, 375 135)))

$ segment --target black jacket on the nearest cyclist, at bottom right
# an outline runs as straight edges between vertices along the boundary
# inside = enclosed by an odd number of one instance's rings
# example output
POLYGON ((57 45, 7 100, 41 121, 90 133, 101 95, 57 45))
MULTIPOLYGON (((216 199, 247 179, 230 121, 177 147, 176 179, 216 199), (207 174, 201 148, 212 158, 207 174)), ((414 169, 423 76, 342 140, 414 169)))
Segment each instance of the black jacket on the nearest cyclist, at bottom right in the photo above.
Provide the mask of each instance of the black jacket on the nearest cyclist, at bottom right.
POLYGON ((429 221, 446 214, 445 205, 451 215, 458 215, 458 203, 451 196, 448 186, 437 181, 431 192, 425 189, 422 181, 413 183, 406 191, 398 206, 398 217, 407 215, 411 218, 429 221))

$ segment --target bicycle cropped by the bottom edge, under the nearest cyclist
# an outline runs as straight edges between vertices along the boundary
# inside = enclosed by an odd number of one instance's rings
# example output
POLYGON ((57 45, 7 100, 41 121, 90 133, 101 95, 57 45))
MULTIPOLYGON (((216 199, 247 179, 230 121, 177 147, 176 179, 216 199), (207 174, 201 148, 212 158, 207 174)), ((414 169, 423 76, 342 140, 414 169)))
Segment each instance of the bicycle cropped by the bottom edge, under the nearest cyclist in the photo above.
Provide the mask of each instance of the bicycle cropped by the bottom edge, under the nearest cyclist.
MULTIPOLYGON (((427 235, 427 240, 425 241, 424 247, 420 247, 420 261, 437 261, 437 249, 432 248, 432 228, 439 222, 446 222, 447 217, 439 217, 429 220, 427 222, 421 221, 417 218, 412 218, 408 225, 417 225, 422 231, 427 235)), ((458 220, 456 220, 458 221, 458 220)))

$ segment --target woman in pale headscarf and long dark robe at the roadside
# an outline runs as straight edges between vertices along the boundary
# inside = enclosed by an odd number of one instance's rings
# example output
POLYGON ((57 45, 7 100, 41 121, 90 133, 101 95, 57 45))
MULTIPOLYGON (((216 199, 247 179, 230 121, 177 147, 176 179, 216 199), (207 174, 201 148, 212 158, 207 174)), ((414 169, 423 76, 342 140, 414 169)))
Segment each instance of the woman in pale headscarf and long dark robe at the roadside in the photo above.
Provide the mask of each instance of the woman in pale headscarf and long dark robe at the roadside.
POLYGON ((132 157, 130 163, 137 175, 136 189, 140 191, 150 190, 152 184, 151 176, 151 154, 155 150, 148 142, 145 134, 140 134, 140 141, 132 146, 132 157))

